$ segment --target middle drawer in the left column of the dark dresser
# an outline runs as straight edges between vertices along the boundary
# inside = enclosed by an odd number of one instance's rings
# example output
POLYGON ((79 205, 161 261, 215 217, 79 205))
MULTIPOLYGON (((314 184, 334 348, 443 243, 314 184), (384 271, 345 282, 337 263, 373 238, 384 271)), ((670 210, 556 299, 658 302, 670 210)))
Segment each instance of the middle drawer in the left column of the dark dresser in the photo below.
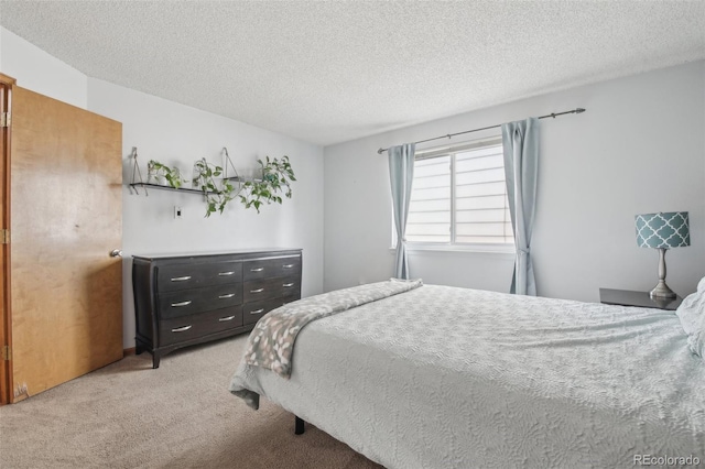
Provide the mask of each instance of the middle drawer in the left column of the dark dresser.
POLYGON ((241 283, 189 288, 159 295, 159 310, 162 319, 225 308, 241 303, 241 283))

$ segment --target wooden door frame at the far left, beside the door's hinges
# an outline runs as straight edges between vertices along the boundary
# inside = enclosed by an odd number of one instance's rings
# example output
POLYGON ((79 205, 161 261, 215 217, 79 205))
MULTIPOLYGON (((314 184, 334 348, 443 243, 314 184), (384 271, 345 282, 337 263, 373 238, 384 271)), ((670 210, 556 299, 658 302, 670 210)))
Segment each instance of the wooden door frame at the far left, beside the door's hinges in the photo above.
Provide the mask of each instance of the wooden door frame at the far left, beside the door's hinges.
MULTIPOLYGON (((8 75, 0 73, 0 113, 7 112, 8 117, 12 116, 12 88, 17 80, 8 75)), ((11 121, 11 120, 10 120, 11 121)), ((0 198, 2 199, 2 215, 0 217, 0 228, 10 233, 10 134, 12 128, 10 122, 7 127, 0 128, 0 140, 2 148, 0 150, 2 164, 0 166, 0 179, 2 181, 2 190, 0 198)), ((0 243, 0 271, 2 279, 0 281, 0 304, 2 308, 2 317, 0 318, 0 347, 8 350, 7 359, 0 357, 0 405, 12 402, 12 308, 10 302, 10 244, 9 239, 0 243)))

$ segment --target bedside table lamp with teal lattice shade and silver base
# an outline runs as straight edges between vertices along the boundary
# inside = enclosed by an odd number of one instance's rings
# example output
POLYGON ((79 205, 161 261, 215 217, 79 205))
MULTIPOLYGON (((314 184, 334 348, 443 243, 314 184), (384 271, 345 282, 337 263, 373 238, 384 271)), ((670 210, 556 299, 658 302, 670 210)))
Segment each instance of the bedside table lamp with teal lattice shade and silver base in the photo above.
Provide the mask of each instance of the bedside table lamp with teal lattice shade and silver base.
POLYGON ((668 211, 637 215, 637 244, 659 250, 659 283, 650 292, 653 298, 675 298, 665 284, 665 251, 691 246, 687 211, 668 211))

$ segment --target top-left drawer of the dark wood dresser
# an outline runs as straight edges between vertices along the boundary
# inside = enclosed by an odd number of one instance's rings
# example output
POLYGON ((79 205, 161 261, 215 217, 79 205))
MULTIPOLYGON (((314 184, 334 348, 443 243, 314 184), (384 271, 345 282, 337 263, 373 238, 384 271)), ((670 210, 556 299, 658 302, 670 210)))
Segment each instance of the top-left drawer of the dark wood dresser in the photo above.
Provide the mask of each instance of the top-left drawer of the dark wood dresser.
POLYGON ((212 262, 164 265, 156 269, 159 292, 221 285, 242 280, 242 262, 212 262))

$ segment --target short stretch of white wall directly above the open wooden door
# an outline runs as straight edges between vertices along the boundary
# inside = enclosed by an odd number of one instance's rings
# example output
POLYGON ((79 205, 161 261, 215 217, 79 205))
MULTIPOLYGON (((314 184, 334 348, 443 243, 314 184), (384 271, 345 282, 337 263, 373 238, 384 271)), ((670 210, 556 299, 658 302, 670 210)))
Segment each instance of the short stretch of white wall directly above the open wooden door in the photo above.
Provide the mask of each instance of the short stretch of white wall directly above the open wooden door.
POLYGON ((22 88, 79 108, 87 107, 86 75, 2 26, 0 26, 0 70, 18 79, 18 86, 22 88))

